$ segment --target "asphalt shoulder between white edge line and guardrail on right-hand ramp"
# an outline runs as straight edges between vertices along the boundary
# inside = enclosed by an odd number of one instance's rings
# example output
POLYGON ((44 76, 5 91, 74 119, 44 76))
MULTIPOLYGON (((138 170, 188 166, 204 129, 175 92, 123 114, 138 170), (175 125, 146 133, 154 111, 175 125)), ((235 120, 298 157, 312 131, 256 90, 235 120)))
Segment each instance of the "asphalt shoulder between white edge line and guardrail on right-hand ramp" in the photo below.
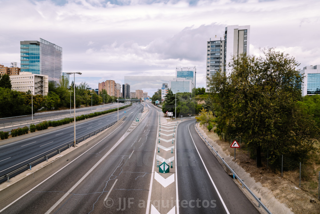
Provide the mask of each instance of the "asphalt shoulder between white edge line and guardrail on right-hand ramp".
MULTIPOLYGON (((220 162, 212 154, 211 150, 204 144, 202 139, 194 129, 194 122, 189 124, 189 130, 195 141, 197 149, 207 167, 213 182, 224 200, 230 213, 255 213, 258 214, 256 207, 244 195, 233 179, 225 172, 220 162)), ((190 136, 190 134, 189 134, 190 136)))

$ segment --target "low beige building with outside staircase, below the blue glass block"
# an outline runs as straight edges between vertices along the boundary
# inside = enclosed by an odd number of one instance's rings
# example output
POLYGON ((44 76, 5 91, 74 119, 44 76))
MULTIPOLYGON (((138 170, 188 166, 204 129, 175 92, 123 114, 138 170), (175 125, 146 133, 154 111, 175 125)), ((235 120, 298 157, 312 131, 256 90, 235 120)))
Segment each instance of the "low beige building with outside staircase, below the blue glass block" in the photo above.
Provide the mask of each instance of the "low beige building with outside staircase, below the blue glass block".
POLYGON ((31 72, 20 72, 19 75, 10 76, 12 90, 33 92, 33 95, 47 95, 48 94, 48 76, 33 74, 31 72), (35 87, 30 87, 35 86, 35 87))

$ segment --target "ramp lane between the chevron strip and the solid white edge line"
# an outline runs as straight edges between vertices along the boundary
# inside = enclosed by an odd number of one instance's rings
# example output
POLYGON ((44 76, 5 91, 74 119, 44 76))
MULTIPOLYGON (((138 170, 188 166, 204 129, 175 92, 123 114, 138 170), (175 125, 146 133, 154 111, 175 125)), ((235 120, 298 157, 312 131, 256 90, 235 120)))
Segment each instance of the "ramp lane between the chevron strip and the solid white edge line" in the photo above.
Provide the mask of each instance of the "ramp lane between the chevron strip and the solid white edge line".
POLYGON ((177 128, 177 180, 181 213, 227 213, 190 137, 190 121, 177 128))

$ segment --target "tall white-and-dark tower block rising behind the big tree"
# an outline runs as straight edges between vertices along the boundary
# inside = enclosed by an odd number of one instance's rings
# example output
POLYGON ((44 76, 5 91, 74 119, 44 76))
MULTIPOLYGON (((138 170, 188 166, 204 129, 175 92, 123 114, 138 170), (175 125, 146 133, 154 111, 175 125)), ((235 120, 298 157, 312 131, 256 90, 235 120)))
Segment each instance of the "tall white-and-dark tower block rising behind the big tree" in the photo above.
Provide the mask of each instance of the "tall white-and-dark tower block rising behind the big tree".
POLYGON ((225 28, 223 37, 213 37, 207 40, 207 72, 206 92, 209 92, 210 78, 216 72, 223 71, 229 76, 228 67, 232 57, 249 54, 250 25, 229 25, 225 28))

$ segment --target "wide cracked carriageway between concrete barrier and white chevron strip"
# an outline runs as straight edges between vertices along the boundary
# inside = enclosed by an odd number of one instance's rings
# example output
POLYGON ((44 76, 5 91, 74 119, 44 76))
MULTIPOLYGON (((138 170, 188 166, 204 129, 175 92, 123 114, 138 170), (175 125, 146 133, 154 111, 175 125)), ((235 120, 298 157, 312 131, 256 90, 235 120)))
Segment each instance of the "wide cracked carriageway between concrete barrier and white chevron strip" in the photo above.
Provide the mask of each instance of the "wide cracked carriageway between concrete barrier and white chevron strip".
POLYGON ((158 113, 150 108, 135 122, 142 109, 135 106, 121 126, 108 136, 97 136, 100 142, 69 159, 60 171, 1 202, 3 209, 27 193, 2 213, 145 213, 146 204, 139 202, 148 199, 158 113))

